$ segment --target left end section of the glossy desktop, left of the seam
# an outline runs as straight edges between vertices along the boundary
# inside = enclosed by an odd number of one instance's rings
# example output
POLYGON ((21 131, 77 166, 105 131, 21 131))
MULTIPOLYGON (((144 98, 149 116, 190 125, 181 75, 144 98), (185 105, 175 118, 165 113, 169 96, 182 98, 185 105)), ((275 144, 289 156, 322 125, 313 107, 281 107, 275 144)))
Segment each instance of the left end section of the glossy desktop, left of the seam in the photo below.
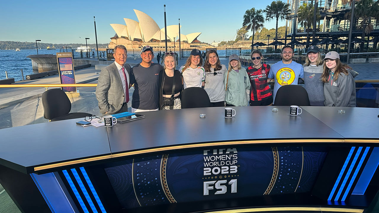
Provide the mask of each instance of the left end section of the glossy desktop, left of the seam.
POLYGON ((34 166, 42 164, 110 157, 105 127, 82 127, 75 124, 76 120, 0 130, 0 164, 30 173, 34 166))

